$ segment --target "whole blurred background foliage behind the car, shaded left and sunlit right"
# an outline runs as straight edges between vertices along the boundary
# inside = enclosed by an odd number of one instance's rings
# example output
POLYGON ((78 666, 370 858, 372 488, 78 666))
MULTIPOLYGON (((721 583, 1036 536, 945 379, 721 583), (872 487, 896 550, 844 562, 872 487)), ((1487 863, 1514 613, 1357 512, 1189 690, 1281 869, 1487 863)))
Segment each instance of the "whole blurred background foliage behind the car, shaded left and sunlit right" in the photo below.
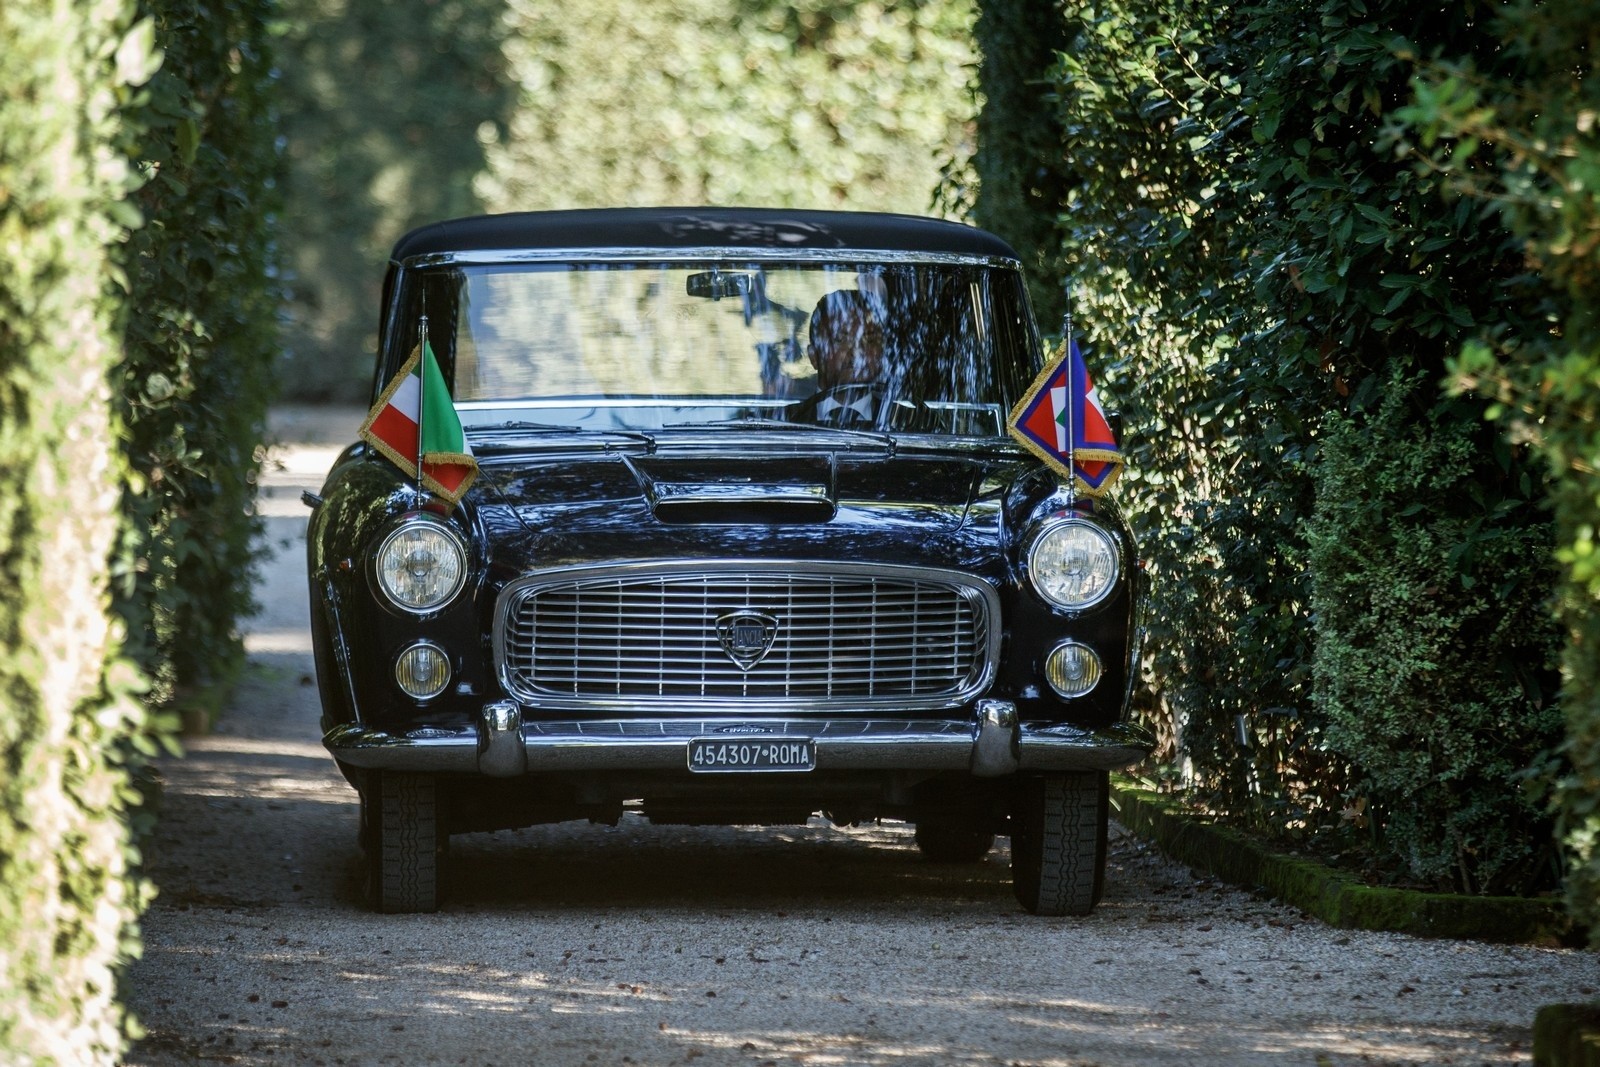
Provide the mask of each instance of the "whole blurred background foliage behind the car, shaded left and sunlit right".
POLYGON ((296 395, 365 395, 378 264, 411 226, 622 205, 922 213, 970 138, 971 0, 286 13, 296 395))

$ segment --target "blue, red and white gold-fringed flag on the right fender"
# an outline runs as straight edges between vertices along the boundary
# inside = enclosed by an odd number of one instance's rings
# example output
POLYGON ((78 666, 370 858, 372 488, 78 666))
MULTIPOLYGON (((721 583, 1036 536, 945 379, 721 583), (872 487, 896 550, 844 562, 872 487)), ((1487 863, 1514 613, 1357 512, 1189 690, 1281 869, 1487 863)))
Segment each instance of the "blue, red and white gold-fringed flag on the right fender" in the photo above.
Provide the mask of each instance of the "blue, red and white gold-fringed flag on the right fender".
POLYGON ((1122 450, 1094 394, 1078 342, 1067 344, 1011 408, 1011 437, 1088 496, 1122 474, 1122 450))

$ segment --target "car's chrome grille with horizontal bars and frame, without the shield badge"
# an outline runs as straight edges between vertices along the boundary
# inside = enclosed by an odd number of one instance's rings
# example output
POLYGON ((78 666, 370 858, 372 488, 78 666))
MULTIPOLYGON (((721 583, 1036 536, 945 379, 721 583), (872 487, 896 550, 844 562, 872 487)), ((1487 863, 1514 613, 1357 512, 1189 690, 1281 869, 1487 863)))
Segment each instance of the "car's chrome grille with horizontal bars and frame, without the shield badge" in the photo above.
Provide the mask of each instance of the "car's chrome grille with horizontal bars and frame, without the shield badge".
POLYGON ((526 707, 914 710, 982 694, 1000 597, 960 571, 816 560, 675 560, 536 571, 494 609, 501 685, 526 707), (742 667, 718 619, 776 619, 742 667))

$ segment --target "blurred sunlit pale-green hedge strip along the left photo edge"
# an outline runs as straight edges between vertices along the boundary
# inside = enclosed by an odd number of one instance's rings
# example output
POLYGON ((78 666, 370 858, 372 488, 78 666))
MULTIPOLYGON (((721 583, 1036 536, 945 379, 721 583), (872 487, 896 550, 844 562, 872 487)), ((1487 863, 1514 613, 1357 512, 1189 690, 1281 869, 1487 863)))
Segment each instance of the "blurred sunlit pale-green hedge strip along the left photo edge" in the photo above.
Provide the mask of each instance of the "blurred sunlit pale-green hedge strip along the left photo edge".
POLYGON ((117 107, 154 66, 133 5, 0 6, 0 1061, 107 1064, 134 950, 118 763, 142 729, 106 616, 122 469, 107 250, 117 107))

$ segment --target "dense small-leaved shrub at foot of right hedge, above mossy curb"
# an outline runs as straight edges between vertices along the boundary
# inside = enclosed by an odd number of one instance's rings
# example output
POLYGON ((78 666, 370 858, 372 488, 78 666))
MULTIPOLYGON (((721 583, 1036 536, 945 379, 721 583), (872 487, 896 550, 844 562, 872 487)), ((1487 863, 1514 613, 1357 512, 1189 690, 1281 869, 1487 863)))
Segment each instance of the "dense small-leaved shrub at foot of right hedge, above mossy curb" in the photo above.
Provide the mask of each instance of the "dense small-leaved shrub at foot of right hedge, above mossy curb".
POLYGON ((1384 867, 1523 893, 1557 872, 1530 789, 1562 726, 1544 486, 1478 403, 1432 394, 1397 368, 1373 410, 1325 424, 1307 526, 1315 701, 1371 798, 1360 819, 1384 867))

